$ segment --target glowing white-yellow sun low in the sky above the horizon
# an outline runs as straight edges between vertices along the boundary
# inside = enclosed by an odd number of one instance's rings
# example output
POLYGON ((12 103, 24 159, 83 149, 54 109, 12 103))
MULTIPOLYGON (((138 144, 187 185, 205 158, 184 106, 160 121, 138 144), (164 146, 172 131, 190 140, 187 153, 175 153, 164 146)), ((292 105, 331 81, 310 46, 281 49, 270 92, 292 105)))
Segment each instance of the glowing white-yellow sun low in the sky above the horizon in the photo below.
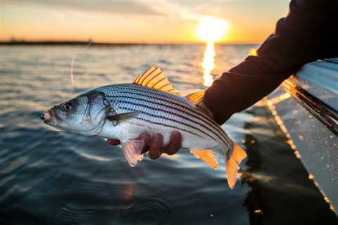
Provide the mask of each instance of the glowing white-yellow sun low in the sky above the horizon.
POLYGON ((213 17, 204 18, 197 28, 197 36, 204 41, 220 41, 229 30, 229 23, 213 17))

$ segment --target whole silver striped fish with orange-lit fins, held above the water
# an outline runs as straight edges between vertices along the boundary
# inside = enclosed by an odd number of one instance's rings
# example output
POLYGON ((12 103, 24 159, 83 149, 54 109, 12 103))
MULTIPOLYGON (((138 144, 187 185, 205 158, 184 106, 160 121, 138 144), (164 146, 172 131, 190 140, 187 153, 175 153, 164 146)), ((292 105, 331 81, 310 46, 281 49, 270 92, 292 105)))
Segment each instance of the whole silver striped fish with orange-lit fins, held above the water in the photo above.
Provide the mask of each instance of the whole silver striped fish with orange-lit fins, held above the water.
POLYGON ((145 143, 137 139, 139 134, 162 134, 166 146, 170 134, 180 131, 182 148, 211 168, 218 168, 216 153, 223 155, 227 181, 233 188, 246 153, 198 106, 203 96, 204 91, 180 96, 161 69, 151 67, 132 84, 89 90, 47 110, 42 119, 57 129, 120 140, 131 167, 143 158, 145 143))

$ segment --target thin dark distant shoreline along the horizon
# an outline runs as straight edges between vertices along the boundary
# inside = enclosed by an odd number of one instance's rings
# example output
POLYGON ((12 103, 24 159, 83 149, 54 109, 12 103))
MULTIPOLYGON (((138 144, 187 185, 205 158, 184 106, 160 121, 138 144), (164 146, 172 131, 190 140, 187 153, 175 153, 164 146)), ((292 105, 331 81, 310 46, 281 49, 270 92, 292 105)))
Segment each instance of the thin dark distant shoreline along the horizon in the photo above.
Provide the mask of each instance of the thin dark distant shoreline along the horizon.
MULTIPOLYGON (((0 46, 50 46, 50 45, 78 45, 83 46, 89 44, 89 41, 0 41, 0 46)), ((231 44, 216 43, 219 45, 256 45, 251 44, 231 44)), ((136 46, 136 45, 204 45, 204 43, 109 43, 109 42, 91 42, 93 46, 136 46)))

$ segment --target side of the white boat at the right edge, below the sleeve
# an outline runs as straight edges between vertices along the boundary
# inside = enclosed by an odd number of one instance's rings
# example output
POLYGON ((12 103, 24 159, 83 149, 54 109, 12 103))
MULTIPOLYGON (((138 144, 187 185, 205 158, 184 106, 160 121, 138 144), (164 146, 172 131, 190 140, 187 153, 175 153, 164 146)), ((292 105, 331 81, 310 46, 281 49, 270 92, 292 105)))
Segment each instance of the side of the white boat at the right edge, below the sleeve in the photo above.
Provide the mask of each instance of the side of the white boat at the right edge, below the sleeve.
POLYGON ((266 101, 308 178, 338 215, 338 58, 303 65, 266 101))

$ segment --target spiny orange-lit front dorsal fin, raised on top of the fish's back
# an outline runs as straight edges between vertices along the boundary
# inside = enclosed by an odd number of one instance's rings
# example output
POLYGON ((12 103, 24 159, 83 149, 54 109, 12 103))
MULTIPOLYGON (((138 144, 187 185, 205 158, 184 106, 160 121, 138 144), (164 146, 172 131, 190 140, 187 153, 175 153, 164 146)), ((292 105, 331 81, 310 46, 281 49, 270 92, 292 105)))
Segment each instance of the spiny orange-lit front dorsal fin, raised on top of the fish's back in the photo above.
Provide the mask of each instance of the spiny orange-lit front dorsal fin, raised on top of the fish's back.
POLYGON ((151 66, 151 68, 146 70, 146 72, 144 72, 142 75, 138 75, 134 79, 133 83, 146 86, 151 89, 165 91, 170 94, 180 94, 174 89, 173 84, 169 82, 167 77, 165 77, 161 68, 154 68, 154 66, 151 66))

